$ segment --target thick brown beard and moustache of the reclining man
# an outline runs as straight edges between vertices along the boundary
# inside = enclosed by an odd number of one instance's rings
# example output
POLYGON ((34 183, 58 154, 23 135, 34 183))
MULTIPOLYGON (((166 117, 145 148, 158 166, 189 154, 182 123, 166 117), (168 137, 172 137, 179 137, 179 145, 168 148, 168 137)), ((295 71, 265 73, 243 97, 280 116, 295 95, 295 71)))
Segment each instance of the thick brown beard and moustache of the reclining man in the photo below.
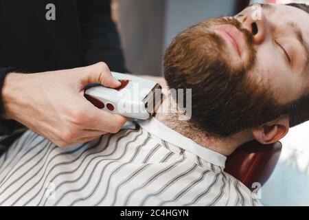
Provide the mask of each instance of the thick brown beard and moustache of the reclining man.
POLYGON ((192 89, 192 122, 215 137, 228 137, 283 115, 290 115, 291 125, 308 120, 307 96, 278 104, 266 85, 247 76, 255 58, 253 35, 239 21, 209 19, 176 36, 168 47, 165 80, 170 89, 192 89), (244 34, 249 58, 242 65, 231 63, 225 41, 211 31, 220 24, 234 25, 244 34))

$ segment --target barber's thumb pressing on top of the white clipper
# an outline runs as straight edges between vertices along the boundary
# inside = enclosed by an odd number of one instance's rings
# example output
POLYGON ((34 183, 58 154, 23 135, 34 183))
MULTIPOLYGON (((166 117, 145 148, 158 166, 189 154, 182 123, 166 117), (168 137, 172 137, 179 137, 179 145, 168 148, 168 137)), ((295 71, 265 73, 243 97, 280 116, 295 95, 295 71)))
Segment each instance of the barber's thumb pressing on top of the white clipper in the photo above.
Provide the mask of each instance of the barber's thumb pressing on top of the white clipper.
POLYGON ((85 71, 82 71, 82 86, 86 87, 90 83, 101 83, 105 87, 117 88, 121 85, 119 80, 115 79, 111 75, 106 63, 100 62, 88 67, 82 67, 85 71), (85 74, 86 72, 86 74, 85 74))

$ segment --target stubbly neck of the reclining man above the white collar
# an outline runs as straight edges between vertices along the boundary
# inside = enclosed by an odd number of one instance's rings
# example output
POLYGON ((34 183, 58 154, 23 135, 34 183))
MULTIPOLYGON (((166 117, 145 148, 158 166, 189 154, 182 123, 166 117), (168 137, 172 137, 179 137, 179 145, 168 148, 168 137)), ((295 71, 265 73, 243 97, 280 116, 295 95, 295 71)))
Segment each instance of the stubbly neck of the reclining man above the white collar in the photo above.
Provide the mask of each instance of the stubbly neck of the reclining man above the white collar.
POLYGON ((155 118, 170 129, 190 138, 198 145, 209 148, 211 151, 228 156, 238 146, 252 140, 252 136, 249 133, 238 133, 226 138, 212 137, 196 126, 191 120, 179 120, 179 118, 184 118, 183 113, 175 113, 176 111, 173 107, 176 107, 176 102, 170 98, 170 94, 165 95, 161 109, 156 113, 155 118))

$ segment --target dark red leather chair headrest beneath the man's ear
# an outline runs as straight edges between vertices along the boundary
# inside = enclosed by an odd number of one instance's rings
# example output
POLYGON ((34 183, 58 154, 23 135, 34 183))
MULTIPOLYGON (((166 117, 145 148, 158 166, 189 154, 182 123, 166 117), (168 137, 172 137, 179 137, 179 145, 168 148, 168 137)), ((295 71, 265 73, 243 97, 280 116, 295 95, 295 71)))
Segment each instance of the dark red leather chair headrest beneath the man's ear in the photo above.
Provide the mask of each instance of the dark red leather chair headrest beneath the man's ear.
POLYGON ((282 151, 282 144, 263 145, 253 141, 240 146, 227 157, 225 172, 240 180, 251 190, 255 183, 263 186, 271 177, 282 151))

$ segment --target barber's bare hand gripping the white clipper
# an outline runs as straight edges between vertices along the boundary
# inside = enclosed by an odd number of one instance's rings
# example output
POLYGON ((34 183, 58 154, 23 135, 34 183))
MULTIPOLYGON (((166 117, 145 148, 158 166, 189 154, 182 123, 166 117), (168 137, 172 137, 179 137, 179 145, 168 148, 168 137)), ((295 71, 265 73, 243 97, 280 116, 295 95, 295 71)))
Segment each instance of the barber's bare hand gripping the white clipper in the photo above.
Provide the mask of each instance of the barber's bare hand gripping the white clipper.
POLYGON ((2 89, 5 118, 14 119, 58 146, 117 133, 126 118, 94 107, 84 87, 121 85, 105 63, 39 74, 8 74, 2 89))

